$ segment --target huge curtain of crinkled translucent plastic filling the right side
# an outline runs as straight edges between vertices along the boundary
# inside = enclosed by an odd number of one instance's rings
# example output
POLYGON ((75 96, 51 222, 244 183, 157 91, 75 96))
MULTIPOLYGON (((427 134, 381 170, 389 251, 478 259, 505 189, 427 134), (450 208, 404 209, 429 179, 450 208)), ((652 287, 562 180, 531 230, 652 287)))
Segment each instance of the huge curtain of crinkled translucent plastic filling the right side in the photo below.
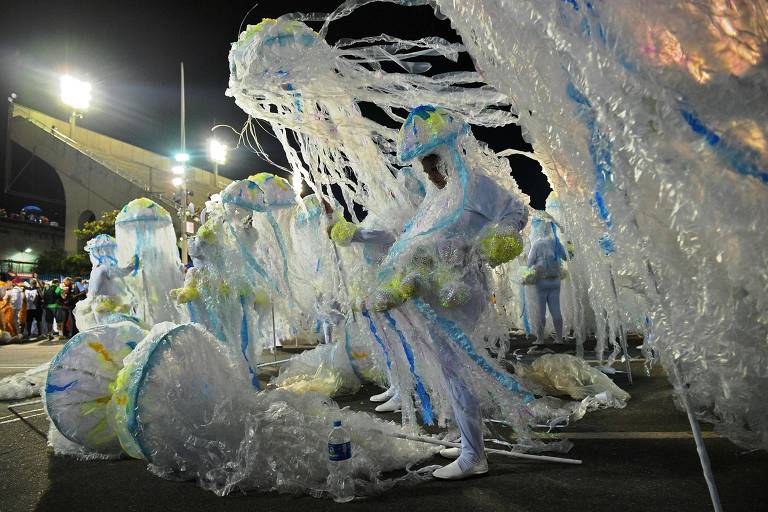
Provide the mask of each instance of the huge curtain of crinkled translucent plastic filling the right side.
POLYGON ((697 417, 768 447, 763 2, 435 4, 518 108, 599 346, 652 326, 697 417))

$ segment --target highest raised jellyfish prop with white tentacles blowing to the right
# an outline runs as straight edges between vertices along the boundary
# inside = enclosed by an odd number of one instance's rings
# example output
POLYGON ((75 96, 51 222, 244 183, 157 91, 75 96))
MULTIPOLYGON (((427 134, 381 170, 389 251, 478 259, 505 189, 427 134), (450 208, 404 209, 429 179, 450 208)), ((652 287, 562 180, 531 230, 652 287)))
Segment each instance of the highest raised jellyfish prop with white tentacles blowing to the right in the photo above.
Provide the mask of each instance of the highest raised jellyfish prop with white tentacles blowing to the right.
MULTIPOLYGON (((395 178, 397 130, 364 117, 358 102, 376 103, 398 123, 403 118, 394 109, 410 110, 424 102, 439 103, 488 126, 509 124, 514 116, 491 88, 462 90, 464 84, 482 81, 475 73, 427 77, 382 71, 383 62, 427 70, 428 64, 411 62, 422 55, 455 61, 461 45, 439 38, 383 36, 331 46, 323 39, 325 30, 316 33, 287 18, 248 27, 232 45, 227 95, 253 118, 270 123, 294 180, 300 178, 327 201, 332 198, 326 185, 338 184, 347 206, 359 204, 397 231, 413 211, 395 178), (289 140, 298 143, 298 151, 289 140)), ((263 153, 250 123, 241 137, 263 153)), ((354 209, 350 213, 357 220, 354 209)))

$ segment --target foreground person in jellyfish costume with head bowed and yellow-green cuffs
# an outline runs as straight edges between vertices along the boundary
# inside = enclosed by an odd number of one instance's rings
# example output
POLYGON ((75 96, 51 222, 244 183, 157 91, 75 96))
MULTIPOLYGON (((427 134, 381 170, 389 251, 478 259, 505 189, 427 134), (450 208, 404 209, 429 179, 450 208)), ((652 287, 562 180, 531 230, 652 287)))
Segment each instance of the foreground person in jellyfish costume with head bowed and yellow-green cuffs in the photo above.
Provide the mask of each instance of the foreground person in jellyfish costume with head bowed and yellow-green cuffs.
POLYGON ((530 398, 471 339, 490 302, 483 267, 520 253, 528 212, 482 169, 468 168, 462 155, 468 131, 462 120, 429 105, 414 109, 403 124, 400 159, 424 165, 425 157, 439 155, 443 186, 427 185, 424 201, 382 263, 376 299, 379 309, 400 306, 412 319, 418 315, 439 358, 461 432, 459 458, 434 474, 444 479, 487 471, 483 402, 503 403, 515 414, 530 398))

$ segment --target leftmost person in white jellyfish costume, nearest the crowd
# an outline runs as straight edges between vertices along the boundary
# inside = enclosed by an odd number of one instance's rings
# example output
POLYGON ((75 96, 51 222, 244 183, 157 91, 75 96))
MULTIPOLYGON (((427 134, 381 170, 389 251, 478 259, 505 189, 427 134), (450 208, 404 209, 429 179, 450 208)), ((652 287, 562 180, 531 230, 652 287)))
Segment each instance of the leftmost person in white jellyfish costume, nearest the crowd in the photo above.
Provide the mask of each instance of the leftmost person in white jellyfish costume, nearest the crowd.
POLYGON ((75 306, 75 319, 80 330, 103 325, 115 315, 129 313, 125 302, 127 290, 124 278, 138 265, 130 262, 125 267, 117 265, 117 241, 110 235, 97 235, 85 244, 85 251, 93 268, 89 279, 88 296, 75 306))

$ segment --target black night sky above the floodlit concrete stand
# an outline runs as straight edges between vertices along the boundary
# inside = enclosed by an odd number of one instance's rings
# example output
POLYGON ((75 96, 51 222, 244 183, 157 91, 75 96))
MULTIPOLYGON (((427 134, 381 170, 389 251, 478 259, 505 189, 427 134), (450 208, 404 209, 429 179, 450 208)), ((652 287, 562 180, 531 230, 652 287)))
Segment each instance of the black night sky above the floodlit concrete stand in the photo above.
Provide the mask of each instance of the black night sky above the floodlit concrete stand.
MULTIPOLYGON (((264 1, 246 23, 276 18, 290 12, 330 12, 340 0, 264 1)), ((59 77, 69 73, 93 84, 93 100, 80 126, 162 154, 179 147, 179 62, 184 61, 187 88, 187 148, 192 165, 210 168, 206 140, 215 124, 242 127, 246 115, 224 96, 229 77, 227 54, 252 1, 3 1, 0 19, 0 88, 15 92, 19 103, 66 119, 59 101, 59 77)), ((316 26, 314 28, 317 28, 316 26)), ((440 36, 459 41, 447 20, 428 7, 381 3, 363 7, 331 24, 330 43, 342 37, 387 33, 402 38, 440 36)), ((472 69, 464 54, 451 68, 472 69)), ((0 136, 5 138, 5 123, 0 136)), ((494 149, 530 149, 517 127, 475 129, 475 135, 494 149)), ((234 146, 231 131, 219 129, 217 138, 234 146)), ((285 162, 282 149, 270 135, 260 139, 271 158, 285 162)), ((5 144, 0 144, 5 152, 5 144)), ((13 149, 18 172, 30 155, 13 149)), ((0 162, 3 158, 0 157, 0 162)), ((514 176, 534 207, 543 208, 549 192, 538 165, 524 157, 512 160, 514 176)), ((233 179, 272 170, 270 164, 240 148, 230 152, 221 173, 233 179)), ((63 198, 61 184, 50 168, 33 160, 15 190, 35 190, 63 198)), ((0 192, 2 190, 0 189, 0 192)), ((0 195, 0 205, 20 208, 29 200, 0 195)), ((63 207, 38 201, 51 217, 63 220, 63 207)))

